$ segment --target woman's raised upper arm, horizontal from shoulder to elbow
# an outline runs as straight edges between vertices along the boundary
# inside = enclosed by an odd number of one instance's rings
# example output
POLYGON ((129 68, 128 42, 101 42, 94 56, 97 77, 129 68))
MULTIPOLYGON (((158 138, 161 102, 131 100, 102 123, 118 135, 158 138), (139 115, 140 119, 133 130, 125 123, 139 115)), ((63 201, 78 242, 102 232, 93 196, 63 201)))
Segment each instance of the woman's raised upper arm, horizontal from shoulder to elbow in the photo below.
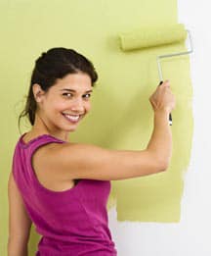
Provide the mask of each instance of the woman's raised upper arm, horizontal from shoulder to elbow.
POLYGON ((108 150, 92 144, 60 144, 37 156, 40 165, 63 179, 116 180, 164 171, 148 150, 108 150), (43 161, 43 162, 42 162, 43 161))

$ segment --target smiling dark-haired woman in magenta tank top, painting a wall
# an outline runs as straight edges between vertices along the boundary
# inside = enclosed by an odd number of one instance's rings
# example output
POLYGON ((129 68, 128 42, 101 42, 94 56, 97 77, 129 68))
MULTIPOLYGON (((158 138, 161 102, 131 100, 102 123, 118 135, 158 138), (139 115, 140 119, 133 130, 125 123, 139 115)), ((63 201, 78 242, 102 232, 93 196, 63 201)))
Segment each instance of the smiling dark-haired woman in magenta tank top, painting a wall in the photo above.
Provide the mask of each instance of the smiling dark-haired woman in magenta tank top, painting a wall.
POLYGON ((32 127, 16 145, 9 179, 9 256, 27 255, 31 223, 42 235, 36 255, 117 255, 107 226, 110 180, 167 169, 175 107, 168 81, 149 98, 154 128, 145 150, 68 141, 90 111, 97 78, 92 63, 71 49, 50 49, 36 61, 20 116, 32 127))

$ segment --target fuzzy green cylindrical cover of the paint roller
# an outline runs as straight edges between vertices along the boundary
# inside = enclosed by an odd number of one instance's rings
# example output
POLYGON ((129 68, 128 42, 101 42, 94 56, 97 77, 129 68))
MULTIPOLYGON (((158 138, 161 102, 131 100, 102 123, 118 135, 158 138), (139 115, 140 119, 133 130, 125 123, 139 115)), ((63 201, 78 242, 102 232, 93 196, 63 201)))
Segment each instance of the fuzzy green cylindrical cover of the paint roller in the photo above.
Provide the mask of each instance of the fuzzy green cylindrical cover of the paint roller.
POLYGON ((143 27, 119 35, 123 51, 139 50, 186 40, 187 30, 183 24, 174 26, 143 27))

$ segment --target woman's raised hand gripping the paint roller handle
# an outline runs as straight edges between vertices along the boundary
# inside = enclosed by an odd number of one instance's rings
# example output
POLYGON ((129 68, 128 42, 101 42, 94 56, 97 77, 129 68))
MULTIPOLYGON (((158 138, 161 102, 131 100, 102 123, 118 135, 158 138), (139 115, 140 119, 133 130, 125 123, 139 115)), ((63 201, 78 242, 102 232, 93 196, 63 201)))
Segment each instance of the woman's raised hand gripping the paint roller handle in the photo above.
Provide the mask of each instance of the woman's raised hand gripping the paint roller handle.
POLYGON ((161 85, 158 85, 156 90, 149 97, 153 111, 165 110, 169 114, 175 108, 176 101, 170 89, 169 80, 165 80, 161 85))

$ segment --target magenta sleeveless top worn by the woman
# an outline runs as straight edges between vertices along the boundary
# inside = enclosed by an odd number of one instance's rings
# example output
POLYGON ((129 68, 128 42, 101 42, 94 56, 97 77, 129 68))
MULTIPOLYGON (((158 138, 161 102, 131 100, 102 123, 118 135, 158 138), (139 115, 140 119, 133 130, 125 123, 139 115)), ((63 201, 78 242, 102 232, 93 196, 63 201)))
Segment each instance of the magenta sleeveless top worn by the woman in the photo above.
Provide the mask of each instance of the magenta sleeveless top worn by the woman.
POLYGON ((107 222, 110 181, 80 179, 75 186, 64 191, 44 187, 32 169, 31 157, 44 144, 65 141, 43 134, 25 144, 23 135, 16 145, 13 175, 25 209, 42 235, 36 255, 117 255, 107 222))

